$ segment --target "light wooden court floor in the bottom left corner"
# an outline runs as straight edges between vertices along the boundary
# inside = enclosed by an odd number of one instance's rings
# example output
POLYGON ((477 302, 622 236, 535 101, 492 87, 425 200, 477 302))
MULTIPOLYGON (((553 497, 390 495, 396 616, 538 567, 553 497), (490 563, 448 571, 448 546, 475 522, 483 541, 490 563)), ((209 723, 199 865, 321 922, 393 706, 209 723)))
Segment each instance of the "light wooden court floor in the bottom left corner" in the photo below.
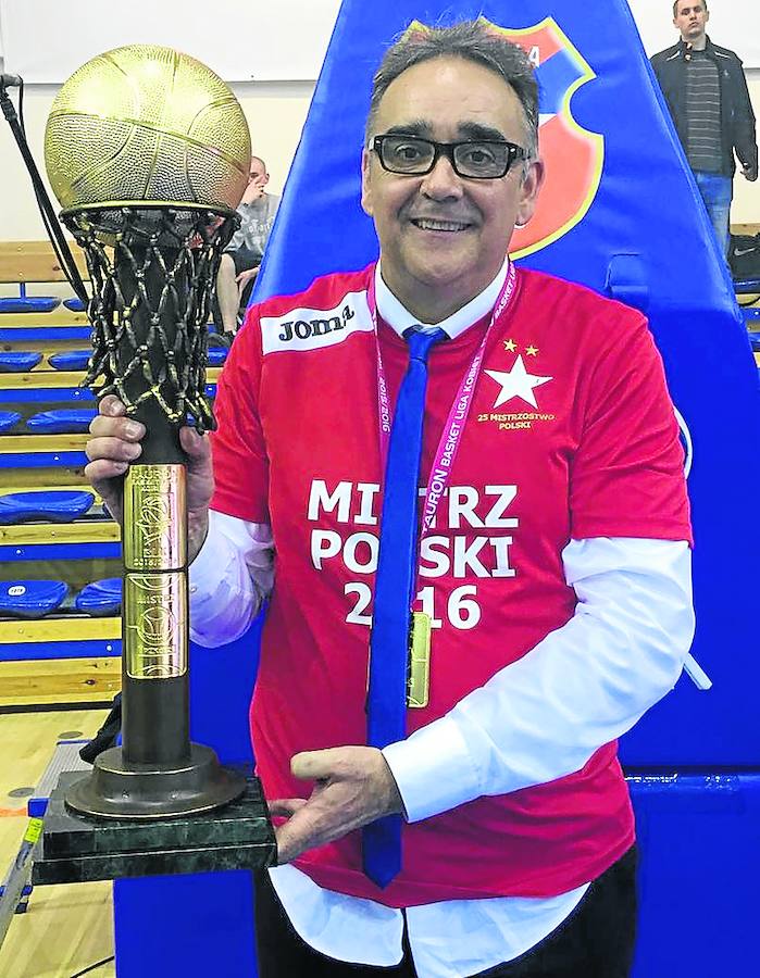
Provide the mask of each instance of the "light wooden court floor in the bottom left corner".
MULTIPOLYGON (((0 881, 26 829, 26 801, 9 794, 33 788, 62 734, 92 737, 105 711, 0 715, 0 881)), ((110 882, 36 887, 0 949, 2 978, 71 978, 113 954, 110 882)), ((113 961, 87 978, 114 978, 113 961)))

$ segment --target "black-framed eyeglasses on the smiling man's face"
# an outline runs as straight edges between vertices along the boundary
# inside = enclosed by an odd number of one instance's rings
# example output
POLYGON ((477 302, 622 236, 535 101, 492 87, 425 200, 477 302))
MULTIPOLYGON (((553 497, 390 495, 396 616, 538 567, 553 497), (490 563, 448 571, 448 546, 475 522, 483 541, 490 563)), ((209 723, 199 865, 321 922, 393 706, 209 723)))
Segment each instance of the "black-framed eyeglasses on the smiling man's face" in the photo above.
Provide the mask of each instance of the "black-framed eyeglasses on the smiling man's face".
POLYGON ((372 149, 383 170, 409 176, 429 173, 440 156, 453 172, 471 180, 496 180, 506 176, 515 160, 527 159, 522 146, 496 139, 469 139, 465 142, 434 142, 421 136, 386 134, 375 136, 372 149))

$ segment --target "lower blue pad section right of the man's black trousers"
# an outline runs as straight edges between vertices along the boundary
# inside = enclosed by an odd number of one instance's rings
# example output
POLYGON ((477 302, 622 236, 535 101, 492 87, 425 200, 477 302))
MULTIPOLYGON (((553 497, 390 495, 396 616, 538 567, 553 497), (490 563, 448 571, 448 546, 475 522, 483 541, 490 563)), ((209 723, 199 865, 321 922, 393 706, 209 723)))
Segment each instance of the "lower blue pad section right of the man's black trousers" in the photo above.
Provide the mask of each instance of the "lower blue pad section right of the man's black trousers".
POLYGON ((650 775, 628 785, 641 853, 633 978, 749 976, 760 777, 650 775))

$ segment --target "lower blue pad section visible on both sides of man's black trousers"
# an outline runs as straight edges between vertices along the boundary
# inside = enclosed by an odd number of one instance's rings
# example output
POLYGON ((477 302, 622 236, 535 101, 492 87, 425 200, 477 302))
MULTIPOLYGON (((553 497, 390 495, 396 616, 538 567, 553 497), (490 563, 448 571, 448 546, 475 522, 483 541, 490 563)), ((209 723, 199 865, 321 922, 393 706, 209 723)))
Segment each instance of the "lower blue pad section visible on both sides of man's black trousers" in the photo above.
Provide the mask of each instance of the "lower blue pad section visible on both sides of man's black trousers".
MULTIPOLYGON (((748 921, 736 906, 749 910, 755 890, 738 895, 736 874, 760 874, 760 777, 643 777, 631 793, 644 853, 634 978, 749 976, 748 921)), ((247 873, 117 880, 120 978, 254 978, 251 889, 247 873), (138 920, 139 941, 129 929, 138 920)))

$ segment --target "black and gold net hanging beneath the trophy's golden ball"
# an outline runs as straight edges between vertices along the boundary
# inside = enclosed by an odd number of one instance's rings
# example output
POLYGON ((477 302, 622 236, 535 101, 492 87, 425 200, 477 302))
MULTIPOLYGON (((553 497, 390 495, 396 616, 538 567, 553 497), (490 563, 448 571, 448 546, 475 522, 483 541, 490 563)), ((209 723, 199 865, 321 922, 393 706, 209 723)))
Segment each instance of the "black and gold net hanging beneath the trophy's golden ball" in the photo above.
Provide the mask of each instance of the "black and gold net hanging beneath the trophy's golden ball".
POLYGON ((234 212, 169 206, 68 211, 91 280, 92 355, 83 386, 127 414, 158 409, 172 426, 213 430, 205 398, 208 321, 234 212))

